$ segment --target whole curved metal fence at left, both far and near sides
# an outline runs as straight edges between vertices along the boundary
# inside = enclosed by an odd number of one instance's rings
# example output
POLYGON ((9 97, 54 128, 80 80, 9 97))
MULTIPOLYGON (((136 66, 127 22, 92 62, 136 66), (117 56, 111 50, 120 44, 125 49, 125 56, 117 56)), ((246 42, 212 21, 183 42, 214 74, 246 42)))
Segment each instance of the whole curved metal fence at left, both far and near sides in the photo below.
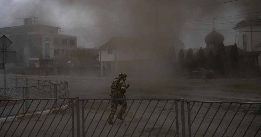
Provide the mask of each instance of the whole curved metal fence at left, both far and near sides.
MULTIPOLYGON (((2 79, 1 79, 2 80, 2 79)), ((1 85, 3 81, 1 81, 1 85)), ((25 79, 25 78, 9 78, 7 79, 7 87, 14 88, 0 88, 0 99, 46 99, 46 98, 68 98, 68 82, 66 81, 49 81, 49 80, 37 80, 37 79, 25 79), (33 86, 34 85, 34 86, 33 86), (37 85, 37 86, 36 86, 37 85), (23 86, 23 87, 19 87, 23 86)), ((62 102, 57 101, 55 106, 60 105, 62 102)), ((43 109, 43 102, 41 102, 38 110, 43 109)), ((34 106, 36 104, 32 104, 34 106)), ((10 115, 18 112, 19 114, 27 112, 32 112, 33 107, 26 109, 29 106, 29 101, 26 100, 22 109, 19 109, 20 104, 14 106, 14 112, 10 115)), ((8 104, 6 101, 0 102, 0 110, 2 111, 2 116, 5 117, 9 113, 9 109, 12 105, 8 104), (6 108, 6 109, 5 109, 6 108)))

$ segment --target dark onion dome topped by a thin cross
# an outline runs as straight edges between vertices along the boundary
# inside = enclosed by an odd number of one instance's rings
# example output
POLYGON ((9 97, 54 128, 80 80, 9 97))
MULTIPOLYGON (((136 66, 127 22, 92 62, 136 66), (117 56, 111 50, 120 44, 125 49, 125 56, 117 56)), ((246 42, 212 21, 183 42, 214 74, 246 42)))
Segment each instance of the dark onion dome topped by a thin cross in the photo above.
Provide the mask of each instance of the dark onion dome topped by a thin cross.
POLYGON ((215 30, 210 32, 206 37, 205 37, 205 43, 208 45, 210 43, 215 44, 220 44, 224 42, 224 36, 215 30))

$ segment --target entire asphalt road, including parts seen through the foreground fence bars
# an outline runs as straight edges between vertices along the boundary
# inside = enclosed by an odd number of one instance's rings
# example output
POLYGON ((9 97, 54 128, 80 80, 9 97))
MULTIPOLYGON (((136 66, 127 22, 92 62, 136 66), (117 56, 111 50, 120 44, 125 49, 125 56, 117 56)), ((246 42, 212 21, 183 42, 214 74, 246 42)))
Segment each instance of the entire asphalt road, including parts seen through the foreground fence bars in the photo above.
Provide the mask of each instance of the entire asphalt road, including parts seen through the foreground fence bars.
MULTIPOLYGON (((79 78, 79 77, 64 77, 64 76, 31 77, 31 76, 16 76, 15 74, 7 75, 7 78, 13 78, 13 77, 28 78, 28 79, 68 81, 69 82, 69 97, 80 97, 81 99, 109 99, 110 98, 110 96, 109 96, 110 95, 110 85, 111 85, 112 80, 114 79, 114 77, 111 77, 111 78, 81 77, 81 78, 79 78)), ((179 98, 184 98, 185 100, 191 100, 191 101, 261 102, 260 82, 261 82, 260 79, 198 80, 198 79, 185 79, 185 78, 174 79, 174 78, 172 78, 169 80, 159 80, 159 79, 148 80, 148 79, 134 79, 134 78, 128 77, 126 80, 126 84, 130 84, 130 87, 127 89, 127 92, 125 95, 126 95, 127 99, 179 99, 179 98)), ((106 101, 104 101, 104 102, 106 103, 106 101)), ((137 103, 139 103, 139 102, 140 101, 135 101, 134 103, 136 103, 136 105, 137 105, 137 103)), ((131 101, 129 101, 128 103, 131 103, 131 101)), ((90 101, 90 104, 91 104, 91 101, 90 101)), ((93 112, 91 111, 90 115, 94 115, 94 113, 96 113, 95 110, 96 110, 98 104, 99 103, 94 105, 94 108, 91 109, 93 112)), ((103 104, 102 107, 105 107, 105 105, 103 104)), ((200 106, 200 104, 195 104, 194 108, 197 108, 199 106, 200 106)), ((144 110, 145 107, 146 106, 142 106, 141 110, 144 110)), ((238 112, 240 118, 244 115, 247 107, 248 106, 244 106, 242 108, 242 110, 238 112)), ((248 115, 250 115, 251 119, 245 118, 245 119, 247 119, 247 122, 250 122, 252 120, 258 107, 253 105, 253 109, 254 109, 253 113, 252 113, 252 110, 250 110, 250 112, 248 113, 248 115)), ((161 109, 161 107, 159 107, 159 108, 161 109)), ((166 107, 166 108, 169 108, 169 107, 166 107)), ((200 113, 199 113, 200 118, 196 119, 196 121, 193 124, 194 127, 192 127, 193 133, 198 128, 199 123, 201 121, 201 117, 203 117, 205 115, 205 110, 207 110, 207 108, 208 108, 208 106, 203 106, 202 113, 200 111, 200 113), (200 121, 197 121, 197 120, 200 120, 200 121)), ((211 110, 205 118, 206 120, 204 122, 206 122, 206 123, 203 123, 203 125, 201 127, 206 127, 209 124, 209 122, 212 120, 212 117, 214 115, 213 113, 216 112, 216 110, 215 110, 216 108, 217 108, 217 106, 213 106, 213 108, 212 108, 213 110, 211 110)), ((237 106, 232 106, 231 112, 229 111, 227 115, 233 116, 236 108, 237 108, 237 106)), ((152 110, 152 109, 149 109, 149 110, 152 110)), ((166 111, 167 110, 169 110, 169 109, 166 109, 166 111)), ((221 119, 223 116, 222 114, 225 113, 226 110, 227 110, 226 105, 222 106, 221 109, 219 110, 220 115, 217 115, 215 118, 221 119)), ((85 111, 85 114, 87 114, 89 110, 85 109, 84 111, 85 111)), ((103 109, 101 109, 101 111, 103 111, 103 109)), ((71 112, 71 110, 68 109, 68 112, 66 113, 65 117, 63 117, 63 120, 70 118, 70 112, 71 112)), ((129 120, 132 119, 134 112, 135 112, 135 109, 130 111, 128 114, 126 114, 127 117, 124 120, 124 126, 122 126, 122 127, 127 127, 128 123, 130 123, 129 120)), ((138 112, 141 113, 143 111, 138 111, 138 112)), ((160 111, 156 110, 156 112, 160 112, 160 111)), ((180 110, 179 110, 179 112, 180 112, 180 110)), ((191 116, 194 116, 196 112, 197 112, 197 110, 191 111, 191 116)), ((102 113, 103 112, 98 112, 97 115, 101 115, 102 113)), ((99 121, 99 119, 96 119, 93 122, 94 124, 96 124, 97 122, 101 122, 100 123, 101 126, 106 125, 106 127, 104 129, 105 133, 111 127, 111 125, 106 123, 106 119, 108 118, 109 113, 110 113, 110 108, 108 107, 104 114, 106 116, 104 116, 101 121, 99 121)), ((186 109, 185 109, 185 113, 187 113, 186 109)), ((148 115, 149 114, 150 113, 148 113, 148 115)), ((154 112, 153 112, 153 114, 154 114, 154 112)), ((53 115, 51 115, 51 116, 53 116, 53 115)), ((58 116, 55 120, 59 121, 61 119, 61 118, 58 118, 59 116, 61 116, 60 113, 58 114, 58 116)), ((147 117, 149 117, 149 116, 144 116, 145 119, 147 117)), ((173 118, 173 117, 175 117, 175 115, 171 114, 170 117, 173 118)), ((41 117, 39 119, 39 122, 41 123, 41 122, 45 121, 44 118, 45 118, 45 116, 41 117)), ((92 118, 92 117, 90 117, 90 118, 92 118)), ((156 117, 152 118, 152 119, 156 119, 156 117)), ((159 120, 164 120, 164 118, 159 118, 159 120)), ((37 121, 37 120, 32 119, 31 122, 34 122, 34 121, 37 121)), ((85 122, 86 123, 85 126, 87 126, 88 122, 90 122, 90 121, 92 121, 92 119, 87 120, 87 123, 85 122)), ((139 117, 135 116, 133 123, 135 123, 135 122, 137 123, 138 121, 140 121, 139 117)), ((181 117, 179 117, 179 121, 181 121, 181 117)), ((230 121, 230 119, 226 119, 224 121, 230 121)), ((240 119, 236 119, 236 121, 239 122, 240 119)), ((13 123, 13 125, 16 126, 19 122, 20 121, 15 121, 13 123)), ((28 119, 23 120, 23 122, 21 122, 21 127, 26 125, 27 122, 28 122, 28 119)), ((47 121, 45 121, 45 123, 46 122, 52 122, 51 118, 48 119, 47 121)), ((144 124, 145 122, 146 121, 141 120, 141 123, 144 124)), ((216 129, 215 125, 217 125, 218 122, 219 122, 218 120, 213 121, 212 125, 214 125, 214 126, 213 127, 211 126, 209 128, 210 132, 213 132, 216 129)), ((120 123, 121 123, 121 121, 116 121, 116 123, 114 124, 114 127, 120 126, 120 123)), ((149 124, 151 124, 151 123, 153 123, 153 122, 149 122, 149 124)), ((7 122, 4 126, 4 128, 8 128, 9 124, 11 124, 11 123, 7 122)), ((32 124, 29 124, 29 125, 31 126, 32 124)), ((61 125, 62 126, 58 127, 58 129, 64 127, 63 124, 61 124, 61 125)), ((252 125, 254 128, 251 128, 250 136, 252 136, 252 133, 254 134, 256 132, 256 128, 258 128, 260 126, 260 117, 256 118, 256 120, 253 122, 252 125), (252 132, 252 129, 254 129, 255 131, 252 132)), ((39 124, 37 126, 39 126, 39 124)), ((236 126, 237 126, 237 124, 232 125, 232 127, 236 127, 236 126)), ((91 126, 91 127, 95 127, 95 126, 91 126)), ((134 125, 130 126, 130 128, 134 128, 134 127, 135 127, 134 125)), ((66 133, 69 132, 70 125, 67 125, 67 128, 66 128, 67 130, 65 130, 66 133)), ((23 130, 23 128, 19 128, 17 130, 17 133, 21 133, 22 130, 23 130)), ((59 130, 62 130, 62 129, 59 129, 59 130)), ((245 130, 246 129, 244 128, 244 126, 242 128, 238 129, 239 133, 241 133, 241 132, 244 133, 245 130)), ((13 131, 13 129, 12 129, 12 131, 13 131)), ((10 131, 10 134, 13 133, 12 131, 10 131)), ((198 133, 199 134, 198 136, 200 136, 201 134, 204 134, 204 131, 205 130, 200 130, 198 133)), ((41 132, 43 132, 43 131, 41 131, 41 132)), ((40 135, 44 135, 45 130, 43 133, 41 133, 41 132, 40 132, 40 135)), ((125 130, 119 131, 119 134, 124 133, 124 132, 125 132, 125 130)), ((144 131, 145 134, 147 132, 149 132, 149 130, 144 131)), ((173 132, 171 134, 174 134, 174 130, 171 132, 173 132)), ((88 134, 92 134, 92 132, 90 132, 88 134)), ((219 136, 219 135, 220 134, 217 134, 217 136, 219 136)), ((126 135, 126 136, 130 136, 130 134, 126 135)), ((231 136, 231 135, 229 134, 228 136, 231 136)))

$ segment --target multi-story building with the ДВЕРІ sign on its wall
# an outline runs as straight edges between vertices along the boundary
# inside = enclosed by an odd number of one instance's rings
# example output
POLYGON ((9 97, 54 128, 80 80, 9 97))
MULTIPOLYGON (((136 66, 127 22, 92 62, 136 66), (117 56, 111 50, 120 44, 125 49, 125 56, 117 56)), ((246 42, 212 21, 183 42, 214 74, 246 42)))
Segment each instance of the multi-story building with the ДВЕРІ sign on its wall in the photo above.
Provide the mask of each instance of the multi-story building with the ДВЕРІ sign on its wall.
POLYGON ((13 44, 7 51, 16 51, 16 66, 27 69, 56 68, 73 61, 76 37, 58 34, 59 27, 38 24, 38 18, 24 20, 24 25, 0 28, 13 44))

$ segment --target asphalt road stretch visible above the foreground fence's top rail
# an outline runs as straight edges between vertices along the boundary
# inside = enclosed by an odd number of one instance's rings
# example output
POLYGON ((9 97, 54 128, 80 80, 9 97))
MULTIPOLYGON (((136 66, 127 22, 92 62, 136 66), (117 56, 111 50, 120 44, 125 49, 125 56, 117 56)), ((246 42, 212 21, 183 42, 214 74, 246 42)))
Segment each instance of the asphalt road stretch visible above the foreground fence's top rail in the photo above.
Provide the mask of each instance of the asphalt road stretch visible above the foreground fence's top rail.
MULTIPOLYGON (((28 79, 64 80, 69 82, 69 97, 82 99, 110 98, 111 78, 85 78, 61 76, 16 76, 28 79)), ((194 101, 261 101, 260 79, 185 79, 146 80, 127 78, 130 84, 127 99, 179 99, 194 101)))

